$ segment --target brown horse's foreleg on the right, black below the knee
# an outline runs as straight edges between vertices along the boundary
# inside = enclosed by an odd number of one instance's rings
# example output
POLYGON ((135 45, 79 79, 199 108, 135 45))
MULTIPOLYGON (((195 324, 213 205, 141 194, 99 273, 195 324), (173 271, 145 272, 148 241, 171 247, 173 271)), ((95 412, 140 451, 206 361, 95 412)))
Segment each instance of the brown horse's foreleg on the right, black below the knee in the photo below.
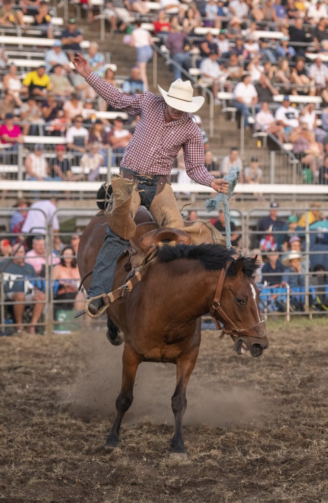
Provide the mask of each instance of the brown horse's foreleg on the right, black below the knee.
POLYGON ((172 410, 175 417, 174 436, 171 441, 171 452, 184 453, 182 436, 182 417, 187 408, 186 388, 189 377, 196 364, 198 347, 179 358, 176 363, 176 388, 172 396, 172 410))

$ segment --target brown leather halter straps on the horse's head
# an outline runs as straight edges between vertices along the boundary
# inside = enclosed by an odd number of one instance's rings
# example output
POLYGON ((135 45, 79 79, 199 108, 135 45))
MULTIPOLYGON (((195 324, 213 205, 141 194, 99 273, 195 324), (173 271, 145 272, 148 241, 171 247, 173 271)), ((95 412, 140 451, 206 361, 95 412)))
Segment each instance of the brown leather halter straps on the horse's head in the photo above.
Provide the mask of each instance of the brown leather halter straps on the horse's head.
POLYGON ((250 335, 250 330, 254 328, 257 325, 260 325, 261 323, 264 323, 264 321, 259 321, 258 323, 255 323, 252 326, 249 326, 248 328, 238 328, 238 326, 233 322, 232 319, 229 318, 228 314, 222 309, 220 305, 220 300, 223 292, 223 287, 225 284, 226 276, 227 276, 227 271, 232 264, 233 260, 239 258, 238 255, 235 255, 226 265, 226 268, 223 268, 220 273, 220 277, 218 278, 218 283, 217 283, 217 288, 214 296, 214 300, 212 303, 212 306, 209 310, 209 314, 214 318, 214 322, 216 325, 216 329, 221 332, 220 334, 220 339, 225 337, 225 334, 227 336, 232 336, 232 337, 241 337, 241 336, 249 336, 249 337, 257 337, 259 339, 262 339, 266 337, 266 334, 263 336, 259 335, 250 335))

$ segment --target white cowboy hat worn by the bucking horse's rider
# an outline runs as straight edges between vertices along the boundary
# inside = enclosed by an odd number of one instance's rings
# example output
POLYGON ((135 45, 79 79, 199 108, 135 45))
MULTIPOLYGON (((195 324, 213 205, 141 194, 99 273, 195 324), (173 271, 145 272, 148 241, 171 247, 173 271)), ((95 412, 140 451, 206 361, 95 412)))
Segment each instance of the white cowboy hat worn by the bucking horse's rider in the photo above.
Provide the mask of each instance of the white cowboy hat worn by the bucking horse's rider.
POLYGON ((176 110, 189 112, 193 114, 203 105, 205 98, 203 96, 193 96, 193 89, 190 80, 181 80, 177 78, 171 83, 168 92, 158 86, 159 92, 165 102, 176 110))

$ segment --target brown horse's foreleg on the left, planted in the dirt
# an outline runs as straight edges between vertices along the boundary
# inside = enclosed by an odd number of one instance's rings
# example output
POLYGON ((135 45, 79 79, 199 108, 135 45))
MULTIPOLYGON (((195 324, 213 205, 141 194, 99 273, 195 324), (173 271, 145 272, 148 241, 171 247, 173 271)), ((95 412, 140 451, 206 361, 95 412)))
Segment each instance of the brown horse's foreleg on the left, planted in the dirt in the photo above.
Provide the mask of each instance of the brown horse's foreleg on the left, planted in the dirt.
POLYGON ((140 363, 141 360, 137 353, 126 344, 123 352, 122 386, 120 394, 116 399, 117 414, 111 433, 107 437, 106 447, 117 447, 119 443, 121 423, 126 411, 131 407, 133 402, 133 386, 140 363))

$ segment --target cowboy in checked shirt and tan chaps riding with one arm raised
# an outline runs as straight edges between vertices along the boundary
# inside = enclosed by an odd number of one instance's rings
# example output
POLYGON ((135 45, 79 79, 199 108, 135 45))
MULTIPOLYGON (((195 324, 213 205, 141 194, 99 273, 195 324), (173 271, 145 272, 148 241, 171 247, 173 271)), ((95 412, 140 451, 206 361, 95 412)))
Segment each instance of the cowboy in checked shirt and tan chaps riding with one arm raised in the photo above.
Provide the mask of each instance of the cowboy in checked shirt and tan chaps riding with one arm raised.
MULTIPOLYGON (((228 192, 228 183, 223 179, 215 179, 204 166, 201 131, 191 115, 202 106, 204 98, 193 97, 189 80, 182 81, 178 78, 171 84, 168 92, 158 86, 162 96, 150 92, 126 96, 91 72, 88 61, 80 53, 74 57, 73 64, 108 104, 140 115, 135 133, 121 161, 123 180, 121 177, 112 178, 113 209, 107 217, 105 242, 93 270, 88 292, 88 297, 91 298, 112 288, 117 259, 125 250, 127 240, 135 233, 133 217, 140 204, 149 209, 160 227, 184 227, 174 193, 167 180, 181 147, 190 178, 225 194, 228 192), (124 202, 123 192, 130 194, 124 202)), ((89 303, 89 311, 91 314, 97 314, 102 306, 102 299, 93 299, 89 303)))

